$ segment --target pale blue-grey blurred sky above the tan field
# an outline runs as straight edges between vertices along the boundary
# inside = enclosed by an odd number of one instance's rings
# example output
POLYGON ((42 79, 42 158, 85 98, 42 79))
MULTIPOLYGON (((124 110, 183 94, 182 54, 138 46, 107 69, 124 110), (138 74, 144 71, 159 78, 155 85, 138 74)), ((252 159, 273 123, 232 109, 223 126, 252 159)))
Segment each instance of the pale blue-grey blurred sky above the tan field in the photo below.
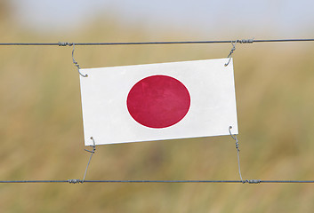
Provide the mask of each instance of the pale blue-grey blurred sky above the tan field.
POLYGON ((84 27, 95 17, 115 15, 127 25, 199 30, 211 36, 238 32, 306 37, 314 33, 313 0, 12 0, 15 20, 36 30, 84 27))

